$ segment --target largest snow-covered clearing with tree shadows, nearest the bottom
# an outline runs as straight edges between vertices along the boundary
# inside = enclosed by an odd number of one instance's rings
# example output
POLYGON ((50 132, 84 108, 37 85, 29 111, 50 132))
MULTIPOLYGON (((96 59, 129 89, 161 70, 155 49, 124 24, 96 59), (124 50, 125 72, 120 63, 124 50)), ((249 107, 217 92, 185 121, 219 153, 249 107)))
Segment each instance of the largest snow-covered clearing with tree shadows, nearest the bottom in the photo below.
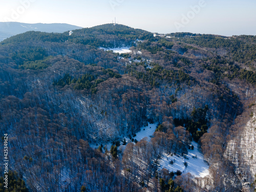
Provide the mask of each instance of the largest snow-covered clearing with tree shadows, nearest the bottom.
POLYGON ((191 143, 194 145, 194 150, 188 150, 188 154, 185 159, 182 156, 173 156, 163 154, 162 158, 159 161, 159 169, 166 168, 170 172, 176 172, 180 170, 183 174, 190 173, 195 177, 205 177, 209 175, 209 166, 204 162, 203 154, 198 150, 197 143, 193 141, 191 143), (173 161, 173 164, 170 164, 170 161, 173 161), (184 162, 187 163, 187 167, 185 167, 184 162))

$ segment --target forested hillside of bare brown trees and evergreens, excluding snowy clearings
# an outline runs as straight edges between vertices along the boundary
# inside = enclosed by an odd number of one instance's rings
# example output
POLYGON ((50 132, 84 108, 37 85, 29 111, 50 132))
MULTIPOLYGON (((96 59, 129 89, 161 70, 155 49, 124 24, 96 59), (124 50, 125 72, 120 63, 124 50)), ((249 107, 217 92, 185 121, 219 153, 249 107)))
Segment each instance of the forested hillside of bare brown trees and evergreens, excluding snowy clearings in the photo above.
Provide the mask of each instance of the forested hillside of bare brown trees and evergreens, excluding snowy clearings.
POLYGON ((73 32, 0 42, 1 137, 28 190, 254 190, 255 169, 238 177, 225 151, 255 103, 255 36, 158 36, 113 24, 73 32), (131 52, 100 49, 117 47, 131 52), (150 140, 134 139, 152 123, 150 140), (169 154, 187 167, 192 141, 207 176, 159 166, 169 154))

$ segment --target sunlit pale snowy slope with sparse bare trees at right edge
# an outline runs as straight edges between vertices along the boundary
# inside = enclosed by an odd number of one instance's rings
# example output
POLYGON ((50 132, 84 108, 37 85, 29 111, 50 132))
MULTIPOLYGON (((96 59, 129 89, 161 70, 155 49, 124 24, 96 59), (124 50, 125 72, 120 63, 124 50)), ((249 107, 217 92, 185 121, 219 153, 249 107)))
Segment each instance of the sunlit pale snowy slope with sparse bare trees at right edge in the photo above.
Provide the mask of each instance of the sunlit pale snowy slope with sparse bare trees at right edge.
POLYGON ((256 109, 253 111, 241 133, 229 141, 225 152, 227 159, 236 166, 236 177, 242 184, 242 191, 253 191, 250 184, 256 174, 256 109))

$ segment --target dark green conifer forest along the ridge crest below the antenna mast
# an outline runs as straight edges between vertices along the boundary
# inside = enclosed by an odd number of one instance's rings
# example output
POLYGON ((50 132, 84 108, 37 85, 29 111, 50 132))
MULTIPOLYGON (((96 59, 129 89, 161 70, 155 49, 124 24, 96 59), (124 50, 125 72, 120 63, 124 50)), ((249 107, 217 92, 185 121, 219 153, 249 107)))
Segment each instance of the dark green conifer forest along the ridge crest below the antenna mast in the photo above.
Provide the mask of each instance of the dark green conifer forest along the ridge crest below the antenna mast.
POLYGON ((92 28, 83 28, 73 30, 73 34, 69 36, 69 32, 65 33, 45 33, 29 31, 23 34, 18 34, 8 39, 5 39, 0 44, 6 45, 14 42, 75 42, 82 45, 90 45, 92 47, 114 48, 115 46, 131 46, 136 39, 155 40, 153 33, 133 29, 124 25, 105 24, 92 28), (99 35, 100 34, 100 35, 99 35))

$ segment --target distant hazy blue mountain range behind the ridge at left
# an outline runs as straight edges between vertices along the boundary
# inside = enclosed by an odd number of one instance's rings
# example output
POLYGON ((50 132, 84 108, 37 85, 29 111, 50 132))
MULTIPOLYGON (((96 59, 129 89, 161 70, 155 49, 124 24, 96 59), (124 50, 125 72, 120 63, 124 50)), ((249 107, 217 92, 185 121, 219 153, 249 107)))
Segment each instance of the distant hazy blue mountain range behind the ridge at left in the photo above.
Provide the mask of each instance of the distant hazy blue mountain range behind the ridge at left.
POLYGON ((69 24, 25 24, 18 22, 0 22, 0 41, 27 31, 63 33, 65 31, 75 29, 82 29, 82 27, 69 24))

